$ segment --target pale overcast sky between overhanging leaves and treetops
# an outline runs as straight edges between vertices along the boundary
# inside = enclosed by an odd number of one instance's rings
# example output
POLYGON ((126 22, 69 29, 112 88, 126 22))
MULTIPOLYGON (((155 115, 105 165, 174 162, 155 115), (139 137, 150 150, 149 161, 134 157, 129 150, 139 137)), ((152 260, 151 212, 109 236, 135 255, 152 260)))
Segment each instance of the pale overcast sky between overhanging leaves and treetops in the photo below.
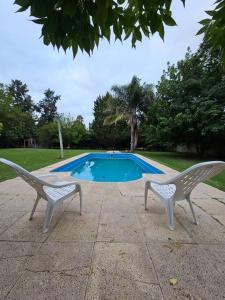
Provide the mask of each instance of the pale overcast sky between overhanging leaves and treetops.
POLYGON ((92 120, 93 103, 113 84, 126 84, 135 74, 143 82, 156 84, 166 63, 182 59, 188 46, 194 51, 202 37, 196 37, 198 21, 212 0, 173 0, 177 27, 167 27, 165 41, 155 35, 131 48, 129 41, 102 41, 91 57, 78 53, 58 52, 39 39, 40 27, 29 21, 29 14, 15 13, 11 0, 0 0, 0 82, 20 79, 28 85, 35 101, 43 91, 53 89, 61 95, 58 110, 72 116, 83 115, 86 124, 92 120))

